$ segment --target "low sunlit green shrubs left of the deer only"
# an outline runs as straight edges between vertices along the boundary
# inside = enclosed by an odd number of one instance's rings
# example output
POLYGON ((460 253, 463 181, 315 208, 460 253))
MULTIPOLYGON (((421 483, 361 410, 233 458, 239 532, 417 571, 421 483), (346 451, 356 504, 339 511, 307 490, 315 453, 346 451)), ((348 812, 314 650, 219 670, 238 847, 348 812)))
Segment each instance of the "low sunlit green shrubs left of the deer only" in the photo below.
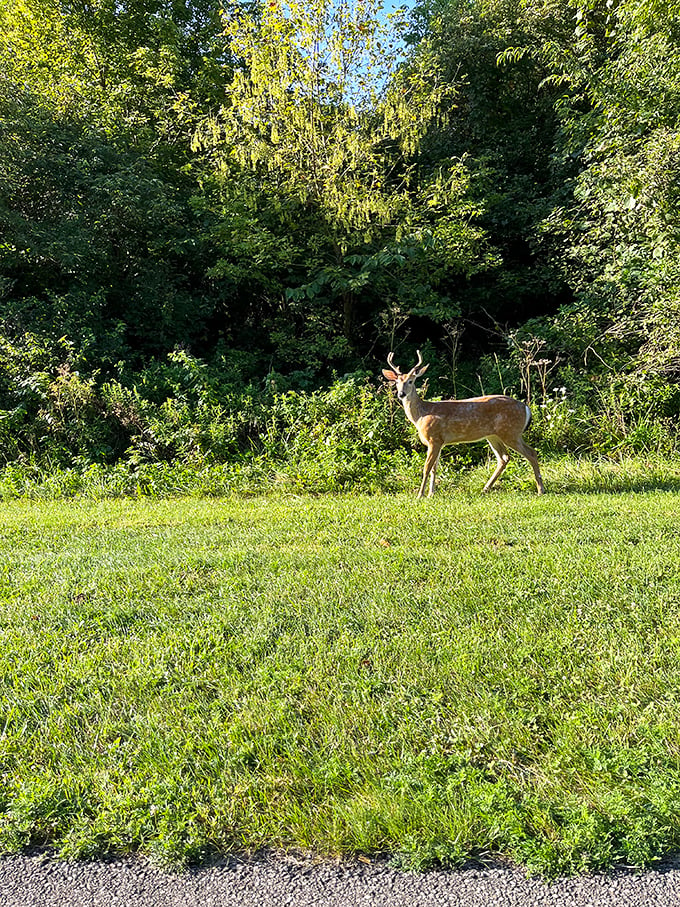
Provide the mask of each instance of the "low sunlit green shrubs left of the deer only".
POLYGON ((0 356, 3 460, 39 471, 75 467, 86 477, 118 460, 131 470, 132 488, 135 474, 152 475, 154 464, 198 474, 222 464, 225 475, 251 471, 262 481, 268 474, 272 483, 337 491, 388 487, 395 451, 412 447, 401 407, 364 376, 305 393, 278 389, 272 373, 266 388, 234 391, 225 371, 177 350, 131 385, 102 382, 81 375, 63 339, 51 345, 26 335, 0 356), (16 381, 27 366, 30 378, 16 381))

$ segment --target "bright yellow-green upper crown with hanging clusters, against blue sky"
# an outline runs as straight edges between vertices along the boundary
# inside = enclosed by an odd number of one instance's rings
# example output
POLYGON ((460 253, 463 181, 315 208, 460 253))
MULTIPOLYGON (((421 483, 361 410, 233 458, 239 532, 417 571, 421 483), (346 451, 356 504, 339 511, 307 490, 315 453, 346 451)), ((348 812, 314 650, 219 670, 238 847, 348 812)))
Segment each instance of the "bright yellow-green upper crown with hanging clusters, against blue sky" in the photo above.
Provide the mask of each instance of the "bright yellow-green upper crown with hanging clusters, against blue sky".
POLYGON ((225 166, 231 157, 277 174, 280 188, 303 205, 322 202, 331 229, 370 230, 390 219, 407 183, 395 173, 385 185, 384 144, 392 140, 412 154, 442 93, 433 73, 418 73, 426 86, 414 74, 393 87, 398 53, 377 12, 374 0, 272 0, 257 18, 236 3, 225 12, 229 47, 242 62, 228 106, 206 130, 223 143, 225 166), (366 115, 358 105, 367 101, 382 109, 366 115))

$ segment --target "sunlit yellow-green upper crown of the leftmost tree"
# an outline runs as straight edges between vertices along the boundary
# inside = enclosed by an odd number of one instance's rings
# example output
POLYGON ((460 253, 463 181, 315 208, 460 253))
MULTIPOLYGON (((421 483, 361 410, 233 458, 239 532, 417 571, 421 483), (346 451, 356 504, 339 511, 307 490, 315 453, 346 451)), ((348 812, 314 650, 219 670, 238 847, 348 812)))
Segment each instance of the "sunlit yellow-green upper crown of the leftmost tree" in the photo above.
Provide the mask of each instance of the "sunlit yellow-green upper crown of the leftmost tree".
POLYGON ((218 0, 5 0, 0 73, 58 119, 171 150, 191 134, 181 127, 194 108, 215 103, 228 62, 219 10, 218 0))

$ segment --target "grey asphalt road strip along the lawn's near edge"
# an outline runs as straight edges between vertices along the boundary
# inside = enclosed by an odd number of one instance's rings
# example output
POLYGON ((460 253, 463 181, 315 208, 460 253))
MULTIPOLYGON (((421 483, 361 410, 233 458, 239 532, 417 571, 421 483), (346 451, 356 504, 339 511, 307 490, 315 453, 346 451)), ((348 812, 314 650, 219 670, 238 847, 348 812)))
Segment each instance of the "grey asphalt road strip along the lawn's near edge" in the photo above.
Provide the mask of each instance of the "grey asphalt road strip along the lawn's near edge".
POLYGON ((385 863, 229 860, 182 874, 143 859, 68 863, 0 859, 2 907, 673 907, 680 857, 644 873, 546 884, 508 867, 428 873, 385 863))

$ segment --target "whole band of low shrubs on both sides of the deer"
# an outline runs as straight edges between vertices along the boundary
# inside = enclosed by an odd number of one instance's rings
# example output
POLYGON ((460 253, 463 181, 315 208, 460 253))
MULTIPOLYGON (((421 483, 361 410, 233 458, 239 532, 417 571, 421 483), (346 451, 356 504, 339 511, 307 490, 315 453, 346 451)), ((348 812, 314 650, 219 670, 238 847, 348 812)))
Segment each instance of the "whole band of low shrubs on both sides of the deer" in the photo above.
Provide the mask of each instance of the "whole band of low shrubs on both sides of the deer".
MULTIPOLYGON (((530 400, 531 440, 543 457, 677 449, 677 385, 639 374, 588 379, 569 363, 553 368, 545 356, 522 359, 516 349, 514 358, 489 360, 480 381, 530 400)), ((46 473, 58 473, 74 493, 98 482, 123 493, 174 493, 189 473, 189 484, 208 493, 267 484, 371 490, 410 486, 422 468, 424 450, 402 407, 366 373, 311 391, 283 389, 273 374, 243 385, 223 360, 176 350, 133 379, 102 381, 79 371, 65 342, 26 336, 0 352, 0 456, 16 470, 6 472, 8 493, 46 473)), ((471 445, 445 457, 469 463, 487 453, 471 445)))

